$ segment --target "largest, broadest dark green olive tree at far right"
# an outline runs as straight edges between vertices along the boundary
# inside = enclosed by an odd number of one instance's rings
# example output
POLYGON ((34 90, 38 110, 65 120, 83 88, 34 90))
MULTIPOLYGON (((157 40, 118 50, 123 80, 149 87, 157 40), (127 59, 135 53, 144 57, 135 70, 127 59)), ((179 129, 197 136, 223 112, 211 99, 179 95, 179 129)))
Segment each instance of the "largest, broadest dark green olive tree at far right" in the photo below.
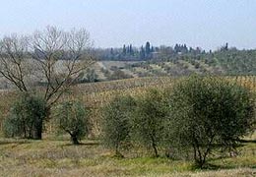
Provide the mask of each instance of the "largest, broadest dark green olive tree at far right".
POLYGON ((201 168, 214 148, 235 148, 255 122, 250 91, 215 77, 193 76, 180 82, 170 96, 170 107, 165 130, 169 147, 191 150, 201 168))

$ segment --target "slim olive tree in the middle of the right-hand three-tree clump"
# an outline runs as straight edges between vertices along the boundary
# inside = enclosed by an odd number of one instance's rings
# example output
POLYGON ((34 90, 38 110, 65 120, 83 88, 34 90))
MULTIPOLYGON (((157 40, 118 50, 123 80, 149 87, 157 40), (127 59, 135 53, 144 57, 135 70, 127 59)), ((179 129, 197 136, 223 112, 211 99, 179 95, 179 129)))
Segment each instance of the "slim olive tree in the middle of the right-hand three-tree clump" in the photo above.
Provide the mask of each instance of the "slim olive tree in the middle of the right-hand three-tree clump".
POLYGON ((139 98, 137 104, 133 127, 135 139, 159 156, 167 110, 165 96, 160 90, 152 89, 139 98))

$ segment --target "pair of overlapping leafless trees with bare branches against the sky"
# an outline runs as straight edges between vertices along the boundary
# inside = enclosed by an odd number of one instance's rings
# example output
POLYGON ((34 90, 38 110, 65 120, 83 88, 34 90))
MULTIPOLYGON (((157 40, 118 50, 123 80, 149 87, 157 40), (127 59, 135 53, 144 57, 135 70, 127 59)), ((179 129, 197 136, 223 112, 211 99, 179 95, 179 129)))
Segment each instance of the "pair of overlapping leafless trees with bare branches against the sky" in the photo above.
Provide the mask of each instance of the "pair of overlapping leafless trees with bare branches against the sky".
POLYGON ((49 117, 51 107, 94 64, 91 47, 86 29, 47 27, 30 37, 4 37, 0 40, 0 74, 21 91, 30 91, 42 82, 44 85, 37 88, 44 92, 49 117))

